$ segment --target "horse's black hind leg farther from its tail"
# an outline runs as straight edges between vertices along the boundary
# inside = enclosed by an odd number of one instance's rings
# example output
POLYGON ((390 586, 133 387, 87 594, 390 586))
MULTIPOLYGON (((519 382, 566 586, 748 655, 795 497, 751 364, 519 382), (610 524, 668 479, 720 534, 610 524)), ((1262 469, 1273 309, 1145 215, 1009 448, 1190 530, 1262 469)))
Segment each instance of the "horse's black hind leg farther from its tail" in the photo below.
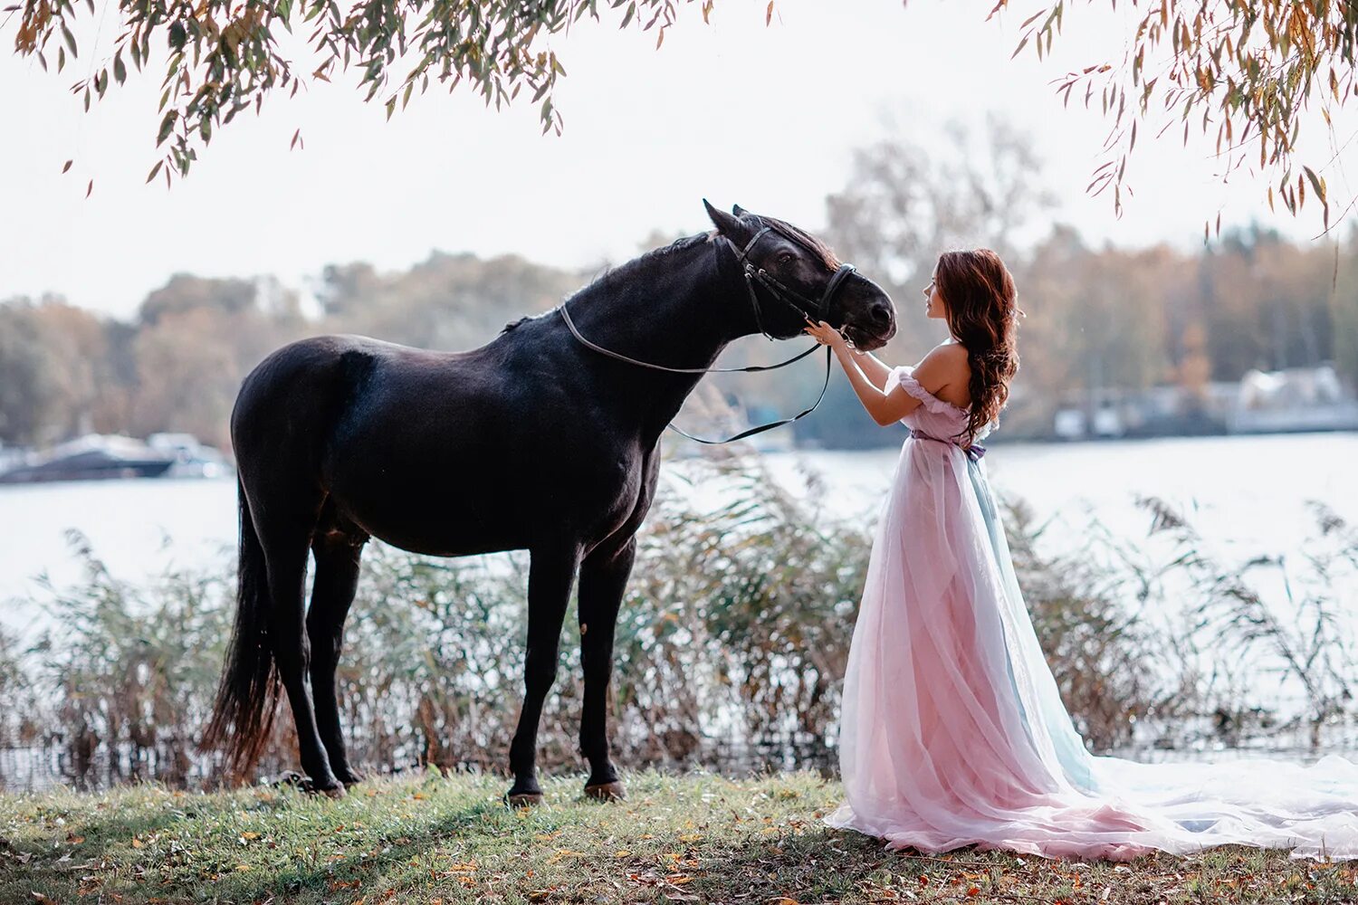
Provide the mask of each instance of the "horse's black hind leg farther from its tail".
POLYGON ((330 769, 345 786, 363 776, 349 765, 340 727, 340 700, 335 669, 344 647, 344 624, 359 588, 359 560, 368 535, 357 525, 341 522, 327 505, 311 541, 316 574, 307 611, 307 639, 311 643, 311 700, 316 730, 330 758, 330 769))

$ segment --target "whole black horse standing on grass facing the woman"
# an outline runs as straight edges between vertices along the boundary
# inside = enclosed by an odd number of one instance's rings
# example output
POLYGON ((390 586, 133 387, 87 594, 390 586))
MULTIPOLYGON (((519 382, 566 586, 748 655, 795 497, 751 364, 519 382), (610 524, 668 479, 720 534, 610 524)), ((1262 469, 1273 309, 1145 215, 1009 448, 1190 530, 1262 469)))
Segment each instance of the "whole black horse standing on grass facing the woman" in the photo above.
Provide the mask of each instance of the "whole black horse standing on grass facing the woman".
POLYGON ((809 313, 860 347, 876 349, 896 330, 887 293, 815 237, 703 204, 716 231, 610 270, 479 349, 316 336, 246 377, 231 414, 236 620, 204 748, 224 748, 236 771, 251 768, 281 685, 312 787, 342 795, 359 775, 340 730, 335 663, 367 540, 437 556, 528 550, 524 701, 508 799, 542 798, 538 722, 577 569, 585 794, 623 796, 604 711, 614 625, 655 494, 660 434, 701 373, 619 361, 580 338, 655 365, 708 368, 739 336, 801 335, 796 308, 818 297, 824 304, 809 313))

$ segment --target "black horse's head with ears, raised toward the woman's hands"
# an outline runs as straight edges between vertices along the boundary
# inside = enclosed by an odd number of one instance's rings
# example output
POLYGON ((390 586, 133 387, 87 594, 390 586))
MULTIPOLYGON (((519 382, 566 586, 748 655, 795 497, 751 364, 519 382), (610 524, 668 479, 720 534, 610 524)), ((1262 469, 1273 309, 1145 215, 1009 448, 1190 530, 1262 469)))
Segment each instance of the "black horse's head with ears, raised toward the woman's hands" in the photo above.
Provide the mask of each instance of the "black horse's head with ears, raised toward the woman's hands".
POLYGON ((880 349, 896 334, 891 296, 841 262, 822 240, 740 205, 727 213, 706 198, 702 204, 744 269, 758 330, 790 339, 811 317, 841 330, 864 350, 880 349))

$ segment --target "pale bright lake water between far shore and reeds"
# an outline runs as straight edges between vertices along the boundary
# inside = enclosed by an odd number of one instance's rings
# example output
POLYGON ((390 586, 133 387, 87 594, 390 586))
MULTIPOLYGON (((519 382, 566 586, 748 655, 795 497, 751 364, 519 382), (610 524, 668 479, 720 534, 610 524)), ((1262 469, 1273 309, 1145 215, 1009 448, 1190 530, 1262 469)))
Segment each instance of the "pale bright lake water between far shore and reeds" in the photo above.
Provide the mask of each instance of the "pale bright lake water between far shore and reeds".
MULTIPOLYGON (((876 517, 899 449, 765 453, 773 475, 805 493, 804 469, 824 479, 828 513, 876 517)), ((1138 495, 1187 510, 1228 558, 1294 554, 1319 499, 1358 520, 1358 434, 1167 438, 1099 444, 1008 444, 986 456, 991 483, 1051 520, 1048 547, 1078 543, 1092 520, 1114 536, 1145 537, 1138 495)), ((667 463, 678 472, 683 460, 667 463)), ((84 533, 111 573, 136 581, 167 564, 225 562, 236 541, 235 480, 115 480, 0 487, 0 623, 31 630, 34 578, 79 577, 67 532, 84 533)))

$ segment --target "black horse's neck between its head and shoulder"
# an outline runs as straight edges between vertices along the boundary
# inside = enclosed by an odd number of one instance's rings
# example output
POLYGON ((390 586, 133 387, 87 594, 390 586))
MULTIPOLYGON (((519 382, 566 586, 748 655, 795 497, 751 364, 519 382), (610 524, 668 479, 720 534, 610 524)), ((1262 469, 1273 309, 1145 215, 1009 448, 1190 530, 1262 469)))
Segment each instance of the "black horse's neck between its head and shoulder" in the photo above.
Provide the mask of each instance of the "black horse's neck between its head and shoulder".
MULTIPOLYGON (((755 332, 739 271, 712 242, 625 265, 568 300, 581 335, 610 351, 668 368, 710 368, 733 339, 755 332)), ((659 436, 702 374, 672 373, 596 355, 610 396, 659 436)))

